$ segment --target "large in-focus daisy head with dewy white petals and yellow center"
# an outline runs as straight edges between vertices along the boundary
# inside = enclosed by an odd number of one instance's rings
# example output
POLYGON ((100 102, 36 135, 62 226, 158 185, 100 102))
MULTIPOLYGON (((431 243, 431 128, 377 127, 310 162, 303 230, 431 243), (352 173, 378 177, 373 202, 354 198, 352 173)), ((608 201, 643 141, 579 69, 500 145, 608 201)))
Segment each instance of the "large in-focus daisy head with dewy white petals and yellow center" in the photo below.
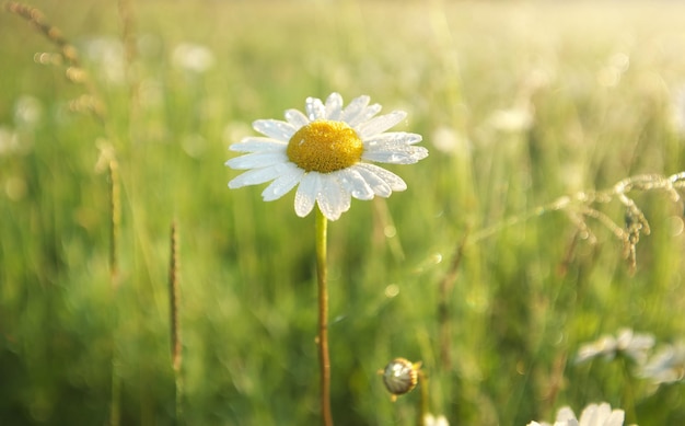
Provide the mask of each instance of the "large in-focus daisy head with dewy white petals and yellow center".
POLYGON ((385 131, 406 113, 376 116, 381 105, 369 101, 359 96, 344 107, 342 96, 332 93, 325 102, 307 97, 304 113, 286 111, 285 122, 254 122, 253 128, 264 136, 231 145, 230 150, 245 154, 225 164, 246 172, 229 182, 229 187, 271 181, 262 193, 265 202, 271 202, 298 186, 295 214, 304 217, 316 204, 328 220, 347 211, 351 198, 369 200, 406 189, 399 176, 372 162, 413 164, 428 157, 428 150, 416 146, 420 135, 385 131))

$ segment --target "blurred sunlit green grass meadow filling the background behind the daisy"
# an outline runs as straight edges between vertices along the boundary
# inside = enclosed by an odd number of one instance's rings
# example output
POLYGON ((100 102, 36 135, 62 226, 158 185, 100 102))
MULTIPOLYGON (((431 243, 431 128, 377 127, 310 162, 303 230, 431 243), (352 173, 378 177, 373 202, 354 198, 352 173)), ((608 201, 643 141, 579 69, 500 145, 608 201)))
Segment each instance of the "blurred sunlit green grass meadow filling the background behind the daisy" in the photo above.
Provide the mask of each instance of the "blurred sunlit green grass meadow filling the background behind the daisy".
POLYGON ((685 4, 32 5, 79 62, 0 13, 0 424, 321 423, 314 217, 229 189, 224 162, 330 92, 407 111, 430 150, 328 226, 337 425, 417 424, 421 391, 393 403, 378 375, 395 357, 451 425, 603 401, 685 422, 683 350, 661 384, 625 348, 576 362, 622 327, 648 360, 685 342, 685 4))

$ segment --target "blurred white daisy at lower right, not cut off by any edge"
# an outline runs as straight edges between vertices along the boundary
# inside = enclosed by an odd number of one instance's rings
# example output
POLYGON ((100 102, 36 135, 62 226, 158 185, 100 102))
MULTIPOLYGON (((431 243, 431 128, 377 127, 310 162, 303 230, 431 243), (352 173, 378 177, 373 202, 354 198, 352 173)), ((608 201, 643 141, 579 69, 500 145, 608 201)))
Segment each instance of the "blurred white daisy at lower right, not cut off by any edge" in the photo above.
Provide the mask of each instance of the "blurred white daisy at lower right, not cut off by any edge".
POLYGON ((653 335, 634 333, 630 329, 620 329, 616 337, 603 335, 592 343, 582 345, 578 350, 576 364, 597 357, 611 360, 617 355, 630 358, 637 364, 642 364, 647 360, 647 352, 653 346, 653 335))

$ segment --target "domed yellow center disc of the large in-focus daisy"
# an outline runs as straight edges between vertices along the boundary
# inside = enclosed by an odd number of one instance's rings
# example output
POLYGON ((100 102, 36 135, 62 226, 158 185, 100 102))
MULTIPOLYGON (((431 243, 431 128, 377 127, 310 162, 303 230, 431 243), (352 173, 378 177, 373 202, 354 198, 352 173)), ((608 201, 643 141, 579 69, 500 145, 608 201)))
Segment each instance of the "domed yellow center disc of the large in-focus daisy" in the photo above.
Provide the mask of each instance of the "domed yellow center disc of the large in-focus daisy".
POLYGON ((359 162, 363 143, 347 123, 318 119, 295 131, 286 152, 307 172, 330 173, 359 162))

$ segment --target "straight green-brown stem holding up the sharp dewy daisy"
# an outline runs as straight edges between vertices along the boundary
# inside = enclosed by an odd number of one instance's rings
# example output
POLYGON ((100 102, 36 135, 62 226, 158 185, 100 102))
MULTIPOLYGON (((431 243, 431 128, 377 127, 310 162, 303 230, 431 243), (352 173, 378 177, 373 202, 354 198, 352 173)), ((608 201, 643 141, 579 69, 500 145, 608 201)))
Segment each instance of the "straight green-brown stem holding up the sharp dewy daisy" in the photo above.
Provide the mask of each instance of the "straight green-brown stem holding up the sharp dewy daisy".
POLYGON ((318 362, 321 366, 321 410, 325 426, 333 426, 330 414, 330 359, 328 357, 328 288, 326 240, 328 221, 316 206, 316 281, 318 284, 318 362))

